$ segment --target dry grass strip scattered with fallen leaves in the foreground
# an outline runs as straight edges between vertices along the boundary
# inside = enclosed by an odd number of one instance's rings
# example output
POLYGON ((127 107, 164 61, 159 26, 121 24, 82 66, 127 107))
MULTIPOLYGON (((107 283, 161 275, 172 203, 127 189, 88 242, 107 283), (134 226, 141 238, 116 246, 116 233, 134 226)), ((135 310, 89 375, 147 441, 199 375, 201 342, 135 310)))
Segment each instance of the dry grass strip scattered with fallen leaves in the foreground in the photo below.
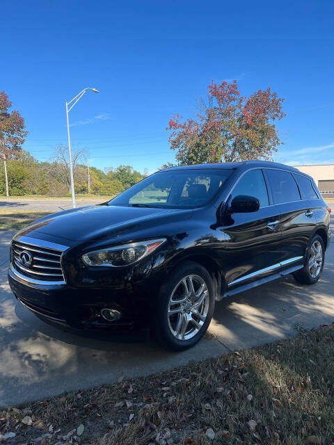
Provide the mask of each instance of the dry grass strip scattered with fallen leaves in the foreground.
POLYGON ((0 433, 43 445, 333 444, 333 357, 331 325, 145 378, 125 369, 114 385, 0 409, 0 433))

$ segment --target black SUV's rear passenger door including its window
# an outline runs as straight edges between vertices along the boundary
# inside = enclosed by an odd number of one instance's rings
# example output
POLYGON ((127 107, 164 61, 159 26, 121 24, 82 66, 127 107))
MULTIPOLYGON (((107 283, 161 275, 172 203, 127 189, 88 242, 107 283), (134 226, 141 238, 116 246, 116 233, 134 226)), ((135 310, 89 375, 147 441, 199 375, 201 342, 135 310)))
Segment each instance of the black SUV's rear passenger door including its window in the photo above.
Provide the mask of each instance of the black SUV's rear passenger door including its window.
POLYGON ((280 209, 280 262, 286 267, 299 266, 303 264, 305 250, 317 223, 312 200, 302 199, 304 188, 303 181, 297 178, 299 175, 271 168, 266 169, 266 175, 273 207, 280 209))

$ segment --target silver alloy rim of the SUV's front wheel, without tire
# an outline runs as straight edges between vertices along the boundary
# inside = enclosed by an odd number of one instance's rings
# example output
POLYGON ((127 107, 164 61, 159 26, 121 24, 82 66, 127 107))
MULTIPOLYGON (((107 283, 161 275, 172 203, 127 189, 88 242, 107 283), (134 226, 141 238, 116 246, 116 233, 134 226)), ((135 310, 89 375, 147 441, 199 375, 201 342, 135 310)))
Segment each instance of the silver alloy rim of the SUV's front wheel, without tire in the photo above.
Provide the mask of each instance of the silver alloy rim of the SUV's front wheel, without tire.
POLYGON ((209 291, 199 275, 186 275, 168 301, 168 326, 178 340, 189 340, 202 328, 209 311, 209 291))

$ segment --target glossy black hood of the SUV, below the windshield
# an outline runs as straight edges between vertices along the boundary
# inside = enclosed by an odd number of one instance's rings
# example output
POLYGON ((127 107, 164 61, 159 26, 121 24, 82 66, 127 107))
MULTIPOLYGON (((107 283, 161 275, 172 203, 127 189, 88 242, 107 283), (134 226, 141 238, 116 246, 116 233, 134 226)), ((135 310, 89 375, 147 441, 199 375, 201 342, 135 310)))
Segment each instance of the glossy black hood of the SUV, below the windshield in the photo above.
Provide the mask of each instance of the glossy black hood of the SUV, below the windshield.
MULTIPOLYGON (((191 210, 96 205, 54 213, 22 229, 18 236, 41 238, 42 234, 70 241, 93 241, 105 236, 147 229, 182 220, 191 210)), ((16 238, 15 237, 15 238, 16 238)))

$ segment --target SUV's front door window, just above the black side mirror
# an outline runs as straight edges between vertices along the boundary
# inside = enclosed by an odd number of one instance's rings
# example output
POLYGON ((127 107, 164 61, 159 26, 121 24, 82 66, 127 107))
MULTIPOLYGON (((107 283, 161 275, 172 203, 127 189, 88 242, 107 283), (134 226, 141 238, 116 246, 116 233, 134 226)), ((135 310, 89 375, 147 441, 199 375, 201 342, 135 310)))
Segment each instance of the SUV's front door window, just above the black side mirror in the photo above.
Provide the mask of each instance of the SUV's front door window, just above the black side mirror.
POLYGON ((256 197, 260 201, 260 207, 269 205, 267 186, 262 170, 250 170, 247 172, 232 190, 229 202, 237 195, 256 197))

